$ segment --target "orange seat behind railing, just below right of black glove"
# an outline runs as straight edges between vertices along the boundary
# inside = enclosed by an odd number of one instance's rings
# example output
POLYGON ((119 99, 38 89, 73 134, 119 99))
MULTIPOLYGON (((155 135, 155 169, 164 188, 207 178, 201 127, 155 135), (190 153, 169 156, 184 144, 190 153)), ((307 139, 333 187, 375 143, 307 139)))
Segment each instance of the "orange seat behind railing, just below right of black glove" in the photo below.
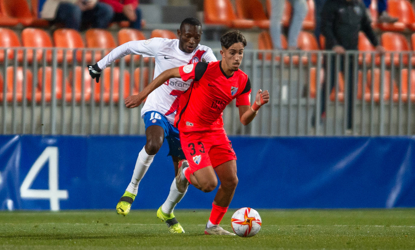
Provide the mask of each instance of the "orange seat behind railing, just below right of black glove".
MULTIPOLYGON (((104 84, 103 88, 103 101, 110 102, 110 95, 112 93, 112 101, 118 102, 120 100, 120 68, 114 67, 111 74, 111 68, 105 68, 102 72, 103 81, 95 83, 95 101, 100 101, 100 88, 101 84, 104 84), (111 80, 113 80, 112 91, 111 91, 111 80)), ((130 86, 130 74, 127 70, 124 70, 124 98, 129 96, 130 86)), ((138 92, 136 86, 133 87, 134 91, 138 92)))

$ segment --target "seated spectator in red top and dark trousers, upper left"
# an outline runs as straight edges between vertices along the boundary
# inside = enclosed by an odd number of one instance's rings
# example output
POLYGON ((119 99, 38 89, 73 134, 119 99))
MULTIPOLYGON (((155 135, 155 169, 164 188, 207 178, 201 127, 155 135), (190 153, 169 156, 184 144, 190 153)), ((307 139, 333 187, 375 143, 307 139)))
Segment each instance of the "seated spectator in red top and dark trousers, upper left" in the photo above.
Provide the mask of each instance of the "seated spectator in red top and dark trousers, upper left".
POLYGON ((138 0, 100 0, 100 2, 111 5, 115 12, 112 21, 127 20, 131 28, 141 29, 141 9, 138 0))

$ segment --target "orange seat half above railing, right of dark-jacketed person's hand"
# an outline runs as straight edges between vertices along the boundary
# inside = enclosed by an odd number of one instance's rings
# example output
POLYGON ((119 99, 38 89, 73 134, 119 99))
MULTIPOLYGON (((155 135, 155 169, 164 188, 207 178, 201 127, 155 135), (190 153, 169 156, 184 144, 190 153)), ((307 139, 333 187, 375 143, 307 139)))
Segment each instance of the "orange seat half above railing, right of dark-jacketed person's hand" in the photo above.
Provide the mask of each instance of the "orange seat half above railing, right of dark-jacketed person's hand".
MULTIPOLYGON (((394 32, 385 32, 381 35, 381 44, 386 51, 395 51, 395 52, 408 52, 410 51, 408 41, 403 34, 394 33, 394 32)), ((391 54, 385 54, 386 65, 391 65, 391 54)), ((408 53, 404 53, 402 56, 402 63, 408 64, 408 53)), ((393 55, 393 64, 395 66, 399 65, 399 54, 394 53, 393 55)))

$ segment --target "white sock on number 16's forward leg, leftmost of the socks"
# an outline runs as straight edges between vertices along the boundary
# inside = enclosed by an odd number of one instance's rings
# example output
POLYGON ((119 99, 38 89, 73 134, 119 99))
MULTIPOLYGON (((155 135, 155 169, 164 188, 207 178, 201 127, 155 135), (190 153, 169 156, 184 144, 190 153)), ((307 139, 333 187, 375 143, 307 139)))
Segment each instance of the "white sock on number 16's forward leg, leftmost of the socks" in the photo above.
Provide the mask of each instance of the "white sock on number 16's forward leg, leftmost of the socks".
POLYGON ((143 149, 138 154, 134 172, 132 173, 131 182, 128 184, 127 189, 125 189, 126 191, 132 194, 137 194, 138 184, 149 169, 150 164, 153 162, 153 158, 154 155, 148 155, 143 147, 143 149))

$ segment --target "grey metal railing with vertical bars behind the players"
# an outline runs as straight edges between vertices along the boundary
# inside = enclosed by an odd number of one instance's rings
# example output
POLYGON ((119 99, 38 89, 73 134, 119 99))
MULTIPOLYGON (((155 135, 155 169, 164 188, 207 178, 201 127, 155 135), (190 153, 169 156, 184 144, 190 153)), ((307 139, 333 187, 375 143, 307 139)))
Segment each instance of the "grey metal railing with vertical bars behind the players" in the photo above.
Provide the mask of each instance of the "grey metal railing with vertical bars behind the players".
MULTIPOLYGON (((126 56, 97 84, 86 66, 107 52, 0 48, 7 55, 0 64, 0 133, 144 134, 140 107, 127 109, 123 100, 153 78, 154 62, 126 56)), ((241 69, 252 92, 267 89, 271 100, 247 126, 233 101, 223 114, 225 129, 229 135, 412 135, 414 61, 412 52, 246 50, 241 69)))

